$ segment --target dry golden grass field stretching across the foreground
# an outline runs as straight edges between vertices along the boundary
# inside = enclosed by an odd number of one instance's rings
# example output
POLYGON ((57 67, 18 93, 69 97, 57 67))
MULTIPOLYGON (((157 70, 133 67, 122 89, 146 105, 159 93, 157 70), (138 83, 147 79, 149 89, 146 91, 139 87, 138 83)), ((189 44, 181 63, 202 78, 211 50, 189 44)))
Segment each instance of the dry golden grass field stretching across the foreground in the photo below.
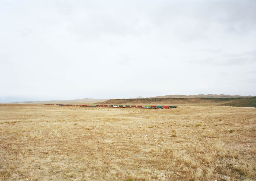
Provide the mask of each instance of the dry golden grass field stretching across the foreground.
POLYGON ((256 109, 0 104, 0 180, 256 180, 256 109))

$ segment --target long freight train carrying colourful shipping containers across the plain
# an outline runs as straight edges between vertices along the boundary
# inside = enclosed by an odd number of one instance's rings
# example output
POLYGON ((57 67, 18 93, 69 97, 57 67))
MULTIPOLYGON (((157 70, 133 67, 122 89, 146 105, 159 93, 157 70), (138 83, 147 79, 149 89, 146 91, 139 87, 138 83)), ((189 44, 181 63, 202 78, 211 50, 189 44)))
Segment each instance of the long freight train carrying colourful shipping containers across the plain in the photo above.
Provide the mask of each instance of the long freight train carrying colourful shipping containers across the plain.
MULTIPOLYGON (((49 104, 46 104, 49 105, 49 104)), ((177 108, 177 106, 136 106, 136 105, 96 105, 88 106, 86 104, 56 104, 57 106, 81 106, 81 107, 117 107, 117 108, 145 108, 145 109, 169 109, 177 108)))

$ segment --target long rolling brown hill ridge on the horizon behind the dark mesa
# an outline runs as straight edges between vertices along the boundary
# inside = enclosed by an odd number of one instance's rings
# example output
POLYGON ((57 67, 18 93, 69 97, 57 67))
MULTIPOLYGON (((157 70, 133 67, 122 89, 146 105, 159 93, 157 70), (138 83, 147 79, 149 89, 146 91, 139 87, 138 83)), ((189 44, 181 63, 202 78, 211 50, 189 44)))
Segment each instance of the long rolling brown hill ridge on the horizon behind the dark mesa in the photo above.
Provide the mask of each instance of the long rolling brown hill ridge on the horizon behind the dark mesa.
POLYGON ((156 96, 156 97, 147 97, 147 98, 227 98, 227 97, 253 97, 253 96, 231 96, 231 95, 225 95, 225 94, 198 94, 198 95, 191 95, 191 96, 185 96, 185 95, 166 95, 166 96, 156 96))

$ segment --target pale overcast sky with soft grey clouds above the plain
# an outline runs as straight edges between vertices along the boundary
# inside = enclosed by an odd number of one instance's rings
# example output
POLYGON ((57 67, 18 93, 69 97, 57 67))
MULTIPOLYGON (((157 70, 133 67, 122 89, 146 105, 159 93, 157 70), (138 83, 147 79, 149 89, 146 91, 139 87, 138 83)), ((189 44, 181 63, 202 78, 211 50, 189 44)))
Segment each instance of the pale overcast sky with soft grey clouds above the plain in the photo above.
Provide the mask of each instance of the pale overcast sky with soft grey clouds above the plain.
POLYGON ((0 103, 256 96, 254 0, 0 0, 0 103))

